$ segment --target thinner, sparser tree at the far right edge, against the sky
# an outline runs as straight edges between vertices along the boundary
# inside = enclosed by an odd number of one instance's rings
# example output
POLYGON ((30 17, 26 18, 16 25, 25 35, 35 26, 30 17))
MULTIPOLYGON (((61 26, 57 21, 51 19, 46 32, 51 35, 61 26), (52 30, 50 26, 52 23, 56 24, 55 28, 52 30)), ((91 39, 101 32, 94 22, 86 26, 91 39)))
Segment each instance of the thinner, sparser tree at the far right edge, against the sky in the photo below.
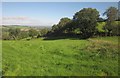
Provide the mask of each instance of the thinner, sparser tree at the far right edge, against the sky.
POLYGON ((113 33, 115 20, 118 20, 118 9, 115 7, 109 7, 103 13, 103 15, 107 16, 107 22, 106 22, 106 25, 104 27, 104 29, 106 31, 106 35, 111 36, 111 34, 113 33))

